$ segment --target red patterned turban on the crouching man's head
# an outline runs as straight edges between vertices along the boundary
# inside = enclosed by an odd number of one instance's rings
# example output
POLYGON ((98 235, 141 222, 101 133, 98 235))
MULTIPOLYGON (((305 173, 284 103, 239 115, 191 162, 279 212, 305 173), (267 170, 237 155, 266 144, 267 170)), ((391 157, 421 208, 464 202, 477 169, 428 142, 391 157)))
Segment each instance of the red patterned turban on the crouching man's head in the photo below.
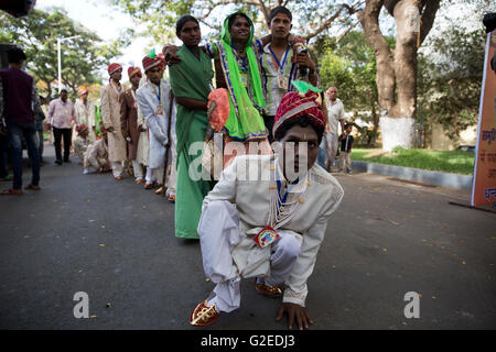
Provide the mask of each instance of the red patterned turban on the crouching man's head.
POLYGON ((309 122, 314 127, 324 127, 325 118, 322 113, 321 105, 316 101, 319 94, 312 90, 305 95, 288 91, 282 97, 278 111, 273 119, 272 133, 276 136, 278 130, 288 121, 300 117, 308 117, 309 122))

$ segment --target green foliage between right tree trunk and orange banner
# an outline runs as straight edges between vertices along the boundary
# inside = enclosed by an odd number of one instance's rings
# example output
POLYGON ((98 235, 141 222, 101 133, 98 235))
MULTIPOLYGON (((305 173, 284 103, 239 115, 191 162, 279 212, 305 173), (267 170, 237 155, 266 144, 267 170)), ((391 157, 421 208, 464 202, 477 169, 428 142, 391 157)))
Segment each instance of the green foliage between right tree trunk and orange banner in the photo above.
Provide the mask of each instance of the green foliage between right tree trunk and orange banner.
POLYGON ((482 29, 444 34, 433 40, 435 54, 419 55, 419 121, 440 123, 456 140, 477 121, 486 36, 482 29))

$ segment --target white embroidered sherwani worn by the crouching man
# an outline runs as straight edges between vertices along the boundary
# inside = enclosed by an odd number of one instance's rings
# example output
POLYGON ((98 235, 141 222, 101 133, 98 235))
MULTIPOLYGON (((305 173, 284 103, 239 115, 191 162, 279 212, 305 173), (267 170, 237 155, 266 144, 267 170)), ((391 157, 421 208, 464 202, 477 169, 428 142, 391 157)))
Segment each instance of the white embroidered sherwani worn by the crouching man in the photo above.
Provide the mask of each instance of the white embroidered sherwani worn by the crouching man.
MULTIPOLYGON (((206 219, 207 217, 204 217, 206 209, 215 201, 229 201, 236 206, 239 213, 238 231, 227 231, 233 264, 230 268, 224 271, 225 275, 222 275, 224 277, 222 280, 233 280, 237 275, 241 277, 267 277, 270 275, 271 246, 260 249, 254 241, 254 237, 269 224, 271 197, 274 197, 274 195, 277 197, 278 191, 277 187, 274 189, 273 180, 276 169, 279 168, 278 174, 282 175, 278 165, 277 155, 237 156, 233 164, 223 170, 219 182, 204 199, 202 219, 198 224, 202 253, 204 253, 204 250, 217 251, 219 243, 212 243, 216 240, 209 241, 211 243, 207 242, 208 239, 204 239, 202 233, 208 237, 207 233, 213 232, 208 231, 208 228, 212 230, 216 226, 219 227, 219 223, 225 220, 215 219, 215 215, 213 218, 206 219), (240 177, 245 175, 244 169, 248 169, 255 175, 260 169, 265 177, 244 180, 240 177)), ((284 183, 283 177, 282 182, 284 183)), ((343 194, 343 188, 338 182, 317 163, 291 188, 287 201, 293 202, 294 206, 288 207, 287 210, 289 210, 288 213, 292 215, 292 218, 288 218, 291 220, 277 231, 288 232, 295 237, 301 243, 301 254, 295 260, 294 266, 285 279, 284 302, 293 302, 304 307, 308 294, 306 280, 313 272, 328 219, 338 207, 343 194), (291 207, 296 207, 296 210, 293 211, 294 208, 291 207)), ((229 222, 224 221, 224 223, 229 222)), ((281 221, 281 223, 283 222, 281 221)), ((217 239, 217 242, 220 241, 222 238, 217 239)), ((224 260, 225 255, 220 257, 220 253, 214 253, 214 262, 224 260)), ((204 267, 209 265, 211 263, 205 263, 204 257, 204 267)), ((214 263, 213 266, 215 265, 214 263)), ((214 279, 213 282, 216 283, 214 279)), ((216 294, 218 295, 218 293, 216 294)), ((230 295, 233 295, 231 290, 230 295)))

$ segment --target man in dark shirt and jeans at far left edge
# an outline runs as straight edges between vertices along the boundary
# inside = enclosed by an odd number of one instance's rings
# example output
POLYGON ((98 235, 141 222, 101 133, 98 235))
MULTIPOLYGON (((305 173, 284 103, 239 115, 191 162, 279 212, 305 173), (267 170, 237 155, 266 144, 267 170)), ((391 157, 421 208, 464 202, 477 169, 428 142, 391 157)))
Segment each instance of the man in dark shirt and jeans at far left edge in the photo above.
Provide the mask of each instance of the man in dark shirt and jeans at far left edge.
POLYGON ((40 97, 33 77, 22 70, 26 56, 19 48, 7 52, 9 68, 0 70, 0 134, 11 146, 13 185, 1 195, 22 195, 22 138, 28 144, 31 162, 31 184, 25 189, 40 190, 40 154, 35 113, 40 97))

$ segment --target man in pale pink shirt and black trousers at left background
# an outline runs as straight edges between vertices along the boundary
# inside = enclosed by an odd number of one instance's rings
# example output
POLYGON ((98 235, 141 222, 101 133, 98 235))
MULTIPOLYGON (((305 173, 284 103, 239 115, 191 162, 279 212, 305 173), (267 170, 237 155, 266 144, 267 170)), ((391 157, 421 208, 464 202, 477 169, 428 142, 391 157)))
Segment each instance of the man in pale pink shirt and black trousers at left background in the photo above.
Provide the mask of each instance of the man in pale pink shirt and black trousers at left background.
POLYGON ((61 140, 64 138, 64 163, 71 163, 72 118, 76 116, 74 105, 67 99, 67 90, 61 90, 61 97, 52 100, 48 107, 47 129, 53 130, 55 163, 62 165, 61 140))

